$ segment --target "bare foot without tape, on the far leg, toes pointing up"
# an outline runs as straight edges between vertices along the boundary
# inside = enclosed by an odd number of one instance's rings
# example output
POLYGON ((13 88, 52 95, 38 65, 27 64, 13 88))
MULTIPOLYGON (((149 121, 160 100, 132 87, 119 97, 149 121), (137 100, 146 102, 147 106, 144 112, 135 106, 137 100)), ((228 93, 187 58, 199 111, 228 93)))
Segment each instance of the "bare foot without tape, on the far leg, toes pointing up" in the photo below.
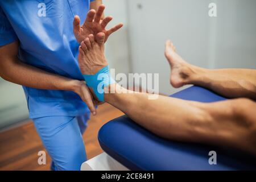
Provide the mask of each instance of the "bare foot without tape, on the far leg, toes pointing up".
POLYGON ((188 64, 176 53, 176 48, 170 40, 167 40, 166 42, 164 55, 171 67, 171 85, 174 86, 174 88, 179 88, 180 86, 188 84, 188 79, 193 73, 192 65, 188 64))

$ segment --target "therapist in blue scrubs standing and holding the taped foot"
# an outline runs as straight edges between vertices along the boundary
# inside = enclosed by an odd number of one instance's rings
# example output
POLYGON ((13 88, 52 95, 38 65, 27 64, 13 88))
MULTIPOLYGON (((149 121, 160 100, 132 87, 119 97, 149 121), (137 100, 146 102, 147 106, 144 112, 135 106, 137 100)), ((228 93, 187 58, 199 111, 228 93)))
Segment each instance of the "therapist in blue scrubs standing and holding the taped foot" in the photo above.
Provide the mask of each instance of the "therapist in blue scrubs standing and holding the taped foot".
POLYGON ((89 34, 122 27, 105 30, 112 17, 101 20, 101 3, 0 1, 0 76, 23 85, 52 170, 79 170, 86 160, 82 133, 96 109, 77 63, 79 45, 89 34))

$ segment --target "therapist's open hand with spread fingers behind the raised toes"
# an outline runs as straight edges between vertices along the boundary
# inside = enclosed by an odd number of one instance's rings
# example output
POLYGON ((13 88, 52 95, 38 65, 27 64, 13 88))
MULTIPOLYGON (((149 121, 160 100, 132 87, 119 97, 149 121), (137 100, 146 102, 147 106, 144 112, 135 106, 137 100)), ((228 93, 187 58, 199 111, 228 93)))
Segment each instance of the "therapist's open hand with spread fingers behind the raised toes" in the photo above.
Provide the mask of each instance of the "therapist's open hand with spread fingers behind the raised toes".
POLYGON ((90 34, 96 36, 99 32, 104 32, 106 35, 105 42, 108 40, 109 36, 113 32, 119 30, 123 26, 122 23, 117 24, 116 26, 106 30, 106 26, 113 19, 112 16, 107 16, 101 21, 101 16, 104 13, 105 6, 100 5, 97 12, 95 10, 90 10, 87 14, 84 24, 80 26, 79 16, 75 16, 73 20, 73 32, 76 37, 77 42, 81 43, 82 40, 87 38, 90 34))

